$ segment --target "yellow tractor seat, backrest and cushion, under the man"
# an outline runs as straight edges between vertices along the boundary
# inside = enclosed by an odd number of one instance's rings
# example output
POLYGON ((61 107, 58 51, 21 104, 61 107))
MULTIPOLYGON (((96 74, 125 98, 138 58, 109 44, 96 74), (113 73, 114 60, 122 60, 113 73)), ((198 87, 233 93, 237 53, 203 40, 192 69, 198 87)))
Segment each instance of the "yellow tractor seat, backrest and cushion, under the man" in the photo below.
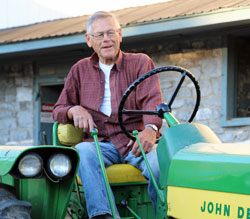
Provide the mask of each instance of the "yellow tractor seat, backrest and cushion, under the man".
MULTIPOLYGON (((54 123, 53 144, 74 146, 82 141, 82 130, 72 124, 54 123)), ((139 169, 130 164, 114 164, 106 168, 109 183, 147 182, 139 169)), ((78 183, 82 185, 77 176, 78 183)))

